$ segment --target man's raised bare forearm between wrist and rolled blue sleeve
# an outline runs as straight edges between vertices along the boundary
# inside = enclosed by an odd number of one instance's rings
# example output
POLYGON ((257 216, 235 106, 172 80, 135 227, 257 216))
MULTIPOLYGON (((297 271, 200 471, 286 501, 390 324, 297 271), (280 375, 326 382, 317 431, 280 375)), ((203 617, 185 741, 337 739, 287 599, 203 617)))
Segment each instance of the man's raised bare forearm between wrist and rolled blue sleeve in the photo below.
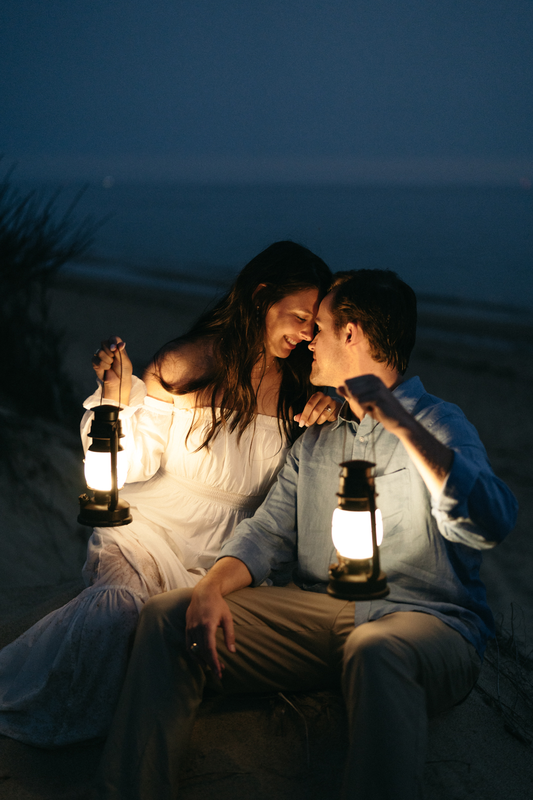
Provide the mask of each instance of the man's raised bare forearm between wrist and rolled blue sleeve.
POLYGON ((428 490, 434 495, 440 494, 451 470, 453 450, 439 442, 410 415, 408 421, 394 433, 407 450, 428 490))

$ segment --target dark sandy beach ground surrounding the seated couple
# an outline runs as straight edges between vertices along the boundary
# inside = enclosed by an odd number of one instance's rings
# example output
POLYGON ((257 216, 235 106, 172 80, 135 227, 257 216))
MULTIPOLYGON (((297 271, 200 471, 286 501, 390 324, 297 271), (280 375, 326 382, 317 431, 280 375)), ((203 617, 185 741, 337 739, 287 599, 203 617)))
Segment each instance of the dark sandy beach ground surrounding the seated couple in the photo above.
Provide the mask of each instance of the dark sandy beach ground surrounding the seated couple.
MULTIPOLYGON (((141 374, 155 350, 186 330, 205 304, 205 297, 131 287, 97 289, 71 283, 54 290, 54 323, 64 330, 66 366, 80 400, 80 416, 83 398, 93 391, 90 357, 101 338, 120 334, 136 374, 141 374)), ((439 333, 443 326, 437 330, 428 321, 431 315, 424 318, 424 332, 408 375, 419 375, 429 392, 463 409, 479 430, 496 474, 519 499, 518 525, 501 546, 484 555, 483 579, 491 607, 507 629, 514 604, 513 624, 518 626, 525 652, 527 634, 533 634, 531 356, 519 342, 507 349, 489 340, 447 342, 439 333)), ((48 426, 38 446, 57 467, 51 477, 46 470, 38 470, 35 477, 39 491, 52 498, 49 507, 39 506, 38 498, 33 503, 2 500, 2 646, 83 587, 80 570, 89 530, 76 522, 77 497, 83 487, 79 445, 75 434, 48 426)), ((462 706, 431 723, 428 798, 523 800, 531 796, 533 750, 527 742, 519 742, 509 726, 506 730, 502 714, 487 700, 497 681, 489 660, 479 689, 462 706)), ((507 692, 512 705, 513 685, 507 685, 503 677, 501 691, 507 692)), ((195 727, 182 796, 188 800, 215 794, 228 800, 250 795, 334 796, 330 790, 337 785, 345 747, 339 698, 319 693, 301 697, 297 703, 308 726, 310 768, 304 723, 283 700, 209 700, 195 727)), ((525 708, 523 714, 528 713, 525 708)), ((0 800, 89 798, 100 748, 101 743, 89 742, 47 753, 0 738, 0 800)))

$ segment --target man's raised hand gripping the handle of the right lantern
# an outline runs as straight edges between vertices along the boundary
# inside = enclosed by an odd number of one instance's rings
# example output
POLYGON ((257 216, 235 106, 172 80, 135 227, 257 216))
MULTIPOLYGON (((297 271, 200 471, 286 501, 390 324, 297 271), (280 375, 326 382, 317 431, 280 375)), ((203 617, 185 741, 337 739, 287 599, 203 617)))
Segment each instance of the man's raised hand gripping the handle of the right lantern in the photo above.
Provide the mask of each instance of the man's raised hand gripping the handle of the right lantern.
MULTIPOLYGON (((392 391, 377 375, 360 375, 349 378, 339 386, 337 393, 355 403, 376 422, 381 422, 386 430, 396 433, 400 426, 408 424, 411 414, 396 400, 392 391)), ((353 410, 353 409, 352 409, 353 410)), ((364 414, 361 415, 364 416, 364 414)), ((357 414, 359 416, 359 414, 357 414)))

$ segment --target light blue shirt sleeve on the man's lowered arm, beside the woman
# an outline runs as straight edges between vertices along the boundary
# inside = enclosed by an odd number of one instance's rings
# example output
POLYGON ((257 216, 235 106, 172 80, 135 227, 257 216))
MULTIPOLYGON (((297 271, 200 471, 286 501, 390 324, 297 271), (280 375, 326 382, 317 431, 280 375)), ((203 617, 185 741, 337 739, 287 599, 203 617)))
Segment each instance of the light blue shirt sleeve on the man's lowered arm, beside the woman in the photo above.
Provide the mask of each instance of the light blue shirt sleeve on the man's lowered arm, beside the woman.
POLYGON ((252 586, 259 586, 275 571, 297 559, 296 494, 301 438, 292 446, 287 461, 268 496, 251 519, 244 519, 233 538, 225 542, 217 561, 233 556, 245 563, 252 586))

